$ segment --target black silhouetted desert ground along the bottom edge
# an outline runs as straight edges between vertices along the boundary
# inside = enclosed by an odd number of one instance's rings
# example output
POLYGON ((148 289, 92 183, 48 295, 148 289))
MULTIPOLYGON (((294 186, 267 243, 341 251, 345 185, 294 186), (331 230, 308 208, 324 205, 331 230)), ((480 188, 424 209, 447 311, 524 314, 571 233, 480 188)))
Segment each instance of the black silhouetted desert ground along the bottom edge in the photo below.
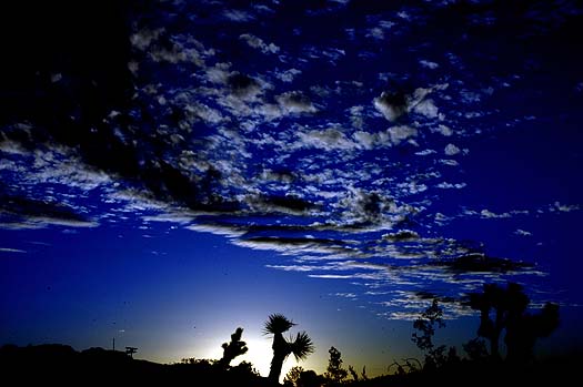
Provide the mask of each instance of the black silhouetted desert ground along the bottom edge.
MULTIPOLYGON (((376 378, 335 383, 323 376, 310 384, 315 386, 564 386, 579 384, 581 355, 549 358, 527 366, 507 363, 461 360, 440 369, 385 375, 376 378)), ((249 363, 222 367, 212 360, 188 360, 179 364, 158 364, 133 359, 122 352, 90 348, 77 352, 66 345, 39 345, 0 348, 2 386, 265 386, 249 363)), ((294 385, 290 385, 294 386, 294 385)))

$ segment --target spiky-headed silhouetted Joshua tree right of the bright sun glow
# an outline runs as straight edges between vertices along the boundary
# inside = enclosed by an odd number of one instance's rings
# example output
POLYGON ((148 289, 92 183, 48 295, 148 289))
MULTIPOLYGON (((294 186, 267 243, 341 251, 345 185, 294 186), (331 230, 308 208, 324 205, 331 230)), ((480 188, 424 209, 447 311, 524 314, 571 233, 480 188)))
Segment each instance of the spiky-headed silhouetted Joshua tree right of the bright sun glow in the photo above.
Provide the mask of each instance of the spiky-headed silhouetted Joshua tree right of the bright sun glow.
POLYGON ((283 337, 283 333, 290 330, 294 325, 293 322, 281 314, 270 315, 265 322, 265 327, 263 328, 264 334, 273 335, 273 345, 271 346, 273 349, 273 359, 271 360, 268 377, 273 384, 279 383, 281 367, 288 356, 293 354, 296 360, 302 360, 314 352, 312 339, 305 332, 298 333, 295 338, 291 336, 289 340, 283 337))

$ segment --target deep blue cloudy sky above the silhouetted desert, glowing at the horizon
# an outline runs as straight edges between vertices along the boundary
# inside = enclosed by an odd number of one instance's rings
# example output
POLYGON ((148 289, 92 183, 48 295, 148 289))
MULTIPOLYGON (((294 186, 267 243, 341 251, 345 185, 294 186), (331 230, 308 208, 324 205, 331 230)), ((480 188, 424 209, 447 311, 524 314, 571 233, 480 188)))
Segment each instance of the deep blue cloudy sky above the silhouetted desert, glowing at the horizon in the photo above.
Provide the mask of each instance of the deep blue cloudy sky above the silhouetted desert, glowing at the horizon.
POLYGON ((0 344, 171 363, 241 326, 265 376, 282 313, 304 368, 375 375, 510 281, 560 304, 541 354, 583 345, 577 1, 2 7, 0 344))

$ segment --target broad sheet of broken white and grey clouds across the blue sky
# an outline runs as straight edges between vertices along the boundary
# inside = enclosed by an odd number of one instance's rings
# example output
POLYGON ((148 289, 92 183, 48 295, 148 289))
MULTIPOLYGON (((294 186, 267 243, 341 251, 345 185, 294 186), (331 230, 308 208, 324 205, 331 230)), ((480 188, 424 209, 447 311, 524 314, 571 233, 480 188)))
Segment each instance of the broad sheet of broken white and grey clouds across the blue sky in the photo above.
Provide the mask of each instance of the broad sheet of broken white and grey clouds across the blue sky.
MULTIPOLYGON (((293 44, 275 44, 260 31, 277 6, 201 6, 213 10, 208 23, 227 22, 238 31, 234 44, 264 54, 264 63, 229 55, 232 41, 199 33, 192 20, 164 27, 163 18, 133 23, 131 58, 123 62, 124 73, 129 68, 133 74, 129 106, 110 104, 109 74, 78 84, 62 69, 46 71, 43 82, 50 88, 68 84, 73 91, 91 84, 82 95, 108 103, 88 108, 76 94, 63 103, 76 108, 54 112, 50 120, 0 128, 6 182, 0 227, 74 232, 139 222, 147 230, 164 222, 223 235, 241 246, 280 252, 281 261, 271 268, 349 281, 363 289, 334 296, 361 299, 368 293, 391 299, 379 304, 389 318, 412 318, 410 312, 430 298, 422 292, 425 285, 442 289, 445 295, 434 295, 445 301, 484 281, 535 273, 531 265, 474 254, 435 235, 439 226, 461 217, 580 211, 580 204, 560 202, 459 214, 439 206, 448 194, 442 190, 466 187, 455 167, 468 153, 461 144, 496 130, 483 120, 496 110, 480 105, 492 100, 494 89, 487 83, 510 93, 524 74, 486 80, 473 90, 476 80, 468 75, 466 58, 455 44, 443 61, 430 45, 408 47, 415 55, 402 65, 386 61, 381 44, 402 39, 419 17, 409 8, 368 16, 362 26, 345 29, 348 40, 314 45, 313 35, 298 28, 290 31, 293 44), (242 24, 259 19, 261 28, 253 33, 242 24), (360 44, 362 39, 366 44, 360 44), (358 53, 350 45, 354 42, 363 48, 358 53), (354 57, 372 70, 359 79, 338 77, 334 70, 354 57), (382 125, 383 120, 389 124, 382 125), (56 128, 44 128, 53 121, 56 128), (395 286, 406 292, 395 293, 395 286)), ((391 58, 401 53, 391 52, 391 58)), ((581 89, 579 83, 575 88, 581 89)), ((56 95, 54 90, 42 92, 56 95)), ((514 233, 531 235, 521 228, 514 233)), ((452 307, 454 313, 464 310, 452 307)))

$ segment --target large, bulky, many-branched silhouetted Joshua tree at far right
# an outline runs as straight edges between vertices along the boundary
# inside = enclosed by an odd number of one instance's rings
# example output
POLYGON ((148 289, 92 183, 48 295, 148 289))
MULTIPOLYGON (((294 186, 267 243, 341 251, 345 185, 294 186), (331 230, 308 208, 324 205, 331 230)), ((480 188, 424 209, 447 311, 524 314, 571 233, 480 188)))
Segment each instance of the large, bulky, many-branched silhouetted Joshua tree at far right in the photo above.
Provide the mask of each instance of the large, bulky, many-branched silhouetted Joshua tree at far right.
POLYGON ((530 304, 519 284, 506 288, 496 284, 484 285, 483 293, 470 294, 470 306, 480 310, 478 335, 490 340, 490 355, 500 359, 500 336, 506 329, 504 343, 507 360, 524 361, 532 357, 536 338, 549 336, 559 326, 559 306, 546 303, 540 314, 526 313, 530 304))

